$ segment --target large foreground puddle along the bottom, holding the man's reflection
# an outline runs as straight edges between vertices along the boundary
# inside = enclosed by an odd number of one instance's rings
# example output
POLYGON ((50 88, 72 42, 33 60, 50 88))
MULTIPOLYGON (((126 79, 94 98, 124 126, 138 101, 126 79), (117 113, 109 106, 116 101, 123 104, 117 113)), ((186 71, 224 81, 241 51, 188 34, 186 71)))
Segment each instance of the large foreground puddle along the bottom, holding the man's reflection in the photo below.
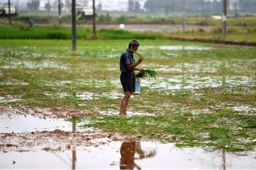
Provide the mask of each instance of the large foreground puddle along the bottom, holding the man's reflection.
MULTIPOLYGON (((49 150, 51 151, 51 150, 49 150)), ((255 153, 246 156, 202 148, 177 148, 173 143, 109 142, 64 152, 7 152, 3 169, 255 169, 255 153), (33 158, 33 160, 31 160, 33 158)))

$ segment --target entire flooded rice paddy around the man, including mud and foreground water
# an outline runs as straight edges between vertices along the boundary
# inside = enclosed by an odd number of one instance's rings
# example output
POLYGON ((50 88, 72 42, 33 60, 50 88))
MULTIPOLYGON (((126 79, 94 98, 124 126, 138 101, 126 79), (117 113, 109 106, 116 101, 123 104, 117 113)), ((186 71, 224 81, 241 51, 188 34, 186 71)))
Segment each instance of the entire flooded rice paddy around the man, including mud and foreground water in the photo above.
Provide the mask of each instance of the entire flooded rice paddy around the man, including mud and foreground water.
POLYGON ((1 168, 256 168, 254 47, 141 40, 158 78, 120 118, 125 40, 21 42, 0 45, 1 168))

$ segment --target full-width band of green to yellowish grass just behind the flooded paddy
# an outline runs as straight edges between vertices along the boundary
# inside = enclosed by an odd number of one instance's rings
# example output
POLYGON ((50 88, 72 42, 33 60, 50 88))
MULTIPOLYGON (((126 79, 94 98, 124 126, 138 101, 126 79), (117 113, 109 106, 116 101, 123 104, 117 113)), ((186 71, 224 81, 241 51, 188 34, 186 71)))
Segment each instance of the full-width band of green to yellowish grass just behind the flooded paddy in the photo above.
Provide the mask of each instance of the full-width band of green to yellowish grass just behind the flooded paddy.
MULTIPOLYGON (((71 28, 69 27, 33 27, 25 26, 2 26, 0 27, 0 39, 71 39, 71 28)), ((219 27, 211 30, 198 28, 185 32, 132 32, 115 29, 97 30, 98 39, 169 39, 169 38, 197 38, 222 40, 222 30, 219 27)), ((77 39, 94 39, 90 28, 77 27, 77 39)), ((229 41, 256 42, 256 29, 254 27, 227 28, 229 41)))

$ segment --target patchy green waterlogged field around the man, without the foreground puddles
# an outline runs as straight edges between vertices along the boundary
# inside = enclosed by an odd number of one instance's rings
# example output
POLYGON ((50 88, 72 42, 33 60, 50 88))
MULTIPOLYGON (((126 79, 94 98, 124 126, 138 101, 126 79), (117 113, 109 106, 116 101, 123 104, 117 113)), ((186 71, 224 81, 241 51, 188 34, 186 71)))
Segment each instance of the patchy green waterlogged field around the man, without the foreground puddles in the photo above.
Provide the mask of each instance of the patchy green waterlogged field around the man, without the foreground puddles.
MULTIPOLYGON (((84 127, 225 151, 256 146, 256 48, 139 40, 158 72, 116 116, 119 56, 129 40, 0 40, 0 105, 86 110, 84 127), (89 120, 89 122, 87 121, 89 120)), ((135 56, 136 60, 138 56, 135 56)))

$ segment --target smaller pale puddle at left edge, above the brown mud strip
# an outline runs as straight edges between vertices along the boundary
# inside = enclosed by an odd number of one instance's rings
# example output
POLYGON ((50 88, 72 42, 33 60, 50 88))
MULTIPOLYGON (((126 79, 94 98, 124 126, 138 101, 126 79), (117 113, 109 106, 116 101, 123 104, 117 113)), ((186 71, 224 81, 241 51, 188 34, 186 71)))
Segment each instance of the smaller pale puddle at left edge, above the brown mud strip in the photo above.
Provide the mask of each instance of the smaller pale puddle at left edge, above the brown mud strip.
MULTIPOLYGON (((77 123, 77 129, 79 128, 77 123)), ((31 115, 0 115, 0 133, 26 133, 33 131, 72 131, 72 122, 64 119, 39 118, 31 115)))

